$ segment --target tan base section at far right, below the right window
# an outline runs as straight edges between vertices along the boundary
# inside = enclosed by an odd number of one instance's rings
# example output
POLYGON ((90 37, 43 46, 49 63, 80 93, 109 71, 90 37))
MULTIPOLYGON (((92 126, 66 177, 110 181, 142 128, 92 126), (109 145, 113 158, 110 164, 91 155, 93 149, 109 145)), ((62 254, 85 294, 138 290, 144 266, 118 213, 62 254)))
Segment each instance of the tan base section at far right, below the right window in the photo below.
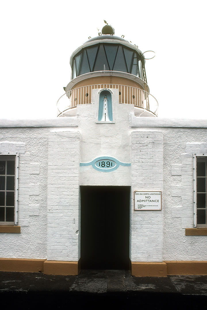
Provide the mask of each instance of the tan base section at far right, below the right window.
POLYGON ((207 261, 165 261, 168 275, 207 275, 207 261))

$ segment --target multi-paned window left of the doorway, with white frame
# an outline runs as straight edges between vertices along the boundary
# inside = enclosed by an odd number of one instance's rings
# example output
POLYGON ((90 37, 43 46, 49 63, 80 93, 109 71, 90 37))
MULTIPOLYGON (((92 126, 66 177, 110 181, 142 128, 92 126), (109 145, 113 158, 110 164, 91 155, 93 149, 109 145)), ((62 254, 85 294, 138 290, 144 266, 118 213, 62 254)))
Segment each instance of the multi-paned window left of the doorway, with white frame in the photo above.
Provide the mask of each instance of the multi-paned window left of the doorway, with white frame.
POLYGON ((0 225, 17 225, 18 154, 0 155, 0 225))

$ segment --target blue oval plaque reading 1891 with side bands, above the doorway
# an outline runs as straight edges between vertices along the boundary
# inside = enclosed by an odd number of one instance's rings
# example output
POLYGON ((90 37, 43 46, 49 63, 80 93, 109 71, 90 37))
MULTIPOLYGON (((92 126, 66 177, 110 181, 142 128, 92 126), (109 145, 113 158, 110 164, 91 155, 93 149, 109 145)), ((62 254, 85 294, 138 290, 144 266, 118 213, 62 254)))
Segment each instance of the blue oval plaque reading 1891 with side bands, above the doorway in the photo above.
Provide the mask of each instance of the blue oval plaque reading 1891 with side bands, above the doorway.
POLYGON ((130 163, 119 162, 118 159, 114 157, 97 157, 91 162, 80 163, 80 166, 92 166, 94 169, 103 172, 114 171, 119 168, 119 166, 131 166, 130 163))

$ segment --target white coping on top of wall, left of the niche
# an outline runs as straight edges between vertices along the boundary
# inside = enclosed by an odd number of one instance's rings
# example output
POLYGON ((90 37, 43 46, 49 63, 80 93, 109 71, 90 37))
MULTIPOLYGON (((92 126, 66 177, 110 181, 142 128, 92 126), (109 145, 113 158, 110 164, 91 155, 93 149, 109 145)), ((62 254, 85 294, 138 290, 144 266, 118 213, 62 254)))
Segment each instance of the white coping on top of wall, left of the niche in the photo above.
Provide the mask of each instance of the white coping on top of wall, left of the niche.
POLYGON ((52 119, 0 119, 0 128, 5 127, 78 127, 77 116, 52 119))

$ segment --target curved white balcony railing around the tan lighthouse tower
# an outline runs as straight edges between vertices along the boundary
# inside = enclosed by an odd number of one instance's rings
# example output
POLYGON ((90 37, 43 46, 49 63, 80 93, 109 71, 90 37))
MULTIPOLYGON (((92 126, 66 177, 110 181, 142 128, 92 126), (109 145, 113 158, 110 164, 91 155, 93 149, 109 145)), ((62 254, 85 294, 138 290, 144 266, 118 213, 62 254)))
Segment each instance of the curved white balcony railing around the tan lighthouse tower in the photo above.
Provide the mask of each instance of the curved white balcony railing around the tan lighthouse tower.
POLYGON ((148 110, 157 116, 158 102, 154 96, 140 88, 119 84, 88 85, 66 92, 57 101, 58 116, 78 104, 91 104, 92 89, 102 88, 118 89, 120 104, 134 104, 135 107, 148 110))

